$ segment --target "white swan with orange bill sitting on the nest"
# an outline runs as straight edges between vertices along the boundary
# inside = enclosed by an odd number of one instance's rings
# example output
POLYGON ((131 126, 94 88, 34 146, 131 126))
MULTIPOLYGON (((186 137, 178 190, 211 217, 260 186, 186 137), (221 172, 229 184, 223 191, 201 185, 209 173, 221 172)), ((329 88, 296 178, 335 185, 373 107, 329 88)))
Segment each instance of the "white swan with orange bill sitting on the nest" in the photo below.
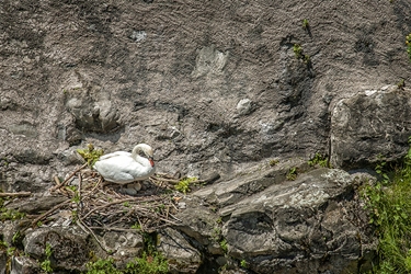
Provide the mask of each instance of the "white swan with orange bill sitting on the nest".
POLYGON ((152 148, 146 144, 138 144, 133 152, 116 151, 100 157, 94 163, 94 169, 107 182, 128 184, 151 176, 155 171, 152 148), (142 151, 147 158, 138 155, 142 151))

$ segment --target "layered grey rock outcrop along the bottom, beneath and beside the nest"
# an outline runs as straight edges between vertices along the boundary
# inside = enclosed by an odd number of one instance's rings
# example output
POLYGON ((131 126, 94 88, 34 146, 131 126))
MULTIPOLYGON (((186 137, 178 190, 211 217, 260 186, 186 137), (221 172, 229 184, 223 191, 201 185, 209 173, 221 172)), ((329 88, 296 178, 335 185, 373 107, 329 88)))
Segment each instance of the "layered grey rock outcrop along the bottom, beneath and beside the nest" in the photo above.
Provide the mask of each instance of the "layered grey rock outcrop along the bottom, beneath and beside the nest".
MULTIPOLYGON (((364 273, 375 259, 376 240, 357 196, 361 182, 358 174, 315 169, 299 159, 260 164, 191 195, 164 196, 175 199, 172 207, 179 210, 173 221, 165 222, 169 226, 151 233, 150 247, 167 258, 170 273, 364 273)), ((53 201, 48 207, 64 203, 58 196, 48 198, 53 201)), ((90 197, 87 201, 92 203, 90 197)), ((164 207, 144 201, 146 208, 164 207)), ((129 224, 141 221, 133 219, 138 204, 122 203, 113 208, 116 214, 95 215, 92 222, 84 218, 90 214, 82 215, 89 226, 109 219, 122 226, 100 225, 93 227, 93 233, 68 210, 56 212, 39 228, 22 230, 26 226, 22 220, 3 222, 5 244, 21 244, 26 254, 13 256, 11 270, 35 272, 38 262, 47 259, 56 271, 84 271, 90 254, 112 258, 118 267, 125 267, 147 248, 148 235, 129 228, 129 224), (22 233, 16 238, 19 230, 22 233), (53 250, 48 256, 47 246, 53 250)), ((19 204, 22 202, 14 201, 7 208, 15 210, 19 204)), ((39 204, 32 205, 46 209, 39 204)), ((168 206, 171 213, 171 204, 168 206)), ((30 206, 24 210, 34 213, 30 206)))

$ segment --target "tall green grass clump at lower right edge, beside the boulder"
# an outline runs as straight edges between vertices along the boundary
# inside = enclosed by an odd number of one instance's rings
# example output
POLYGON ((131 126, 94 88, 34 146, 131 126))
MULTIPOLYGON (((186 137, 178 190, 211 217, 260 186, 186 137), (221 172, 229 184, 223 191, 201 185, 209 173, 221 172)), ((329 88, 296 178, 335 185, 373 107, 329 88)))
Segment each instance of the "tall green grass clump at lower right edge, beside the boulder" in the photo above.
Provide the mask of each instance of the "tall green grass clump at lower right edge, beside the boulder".
POLYGON ((387 165, 380 161, 379 182, 362 192, 379 238, 379 264, 373 273, 411 273, 411 148, 400 167, 387 165))

